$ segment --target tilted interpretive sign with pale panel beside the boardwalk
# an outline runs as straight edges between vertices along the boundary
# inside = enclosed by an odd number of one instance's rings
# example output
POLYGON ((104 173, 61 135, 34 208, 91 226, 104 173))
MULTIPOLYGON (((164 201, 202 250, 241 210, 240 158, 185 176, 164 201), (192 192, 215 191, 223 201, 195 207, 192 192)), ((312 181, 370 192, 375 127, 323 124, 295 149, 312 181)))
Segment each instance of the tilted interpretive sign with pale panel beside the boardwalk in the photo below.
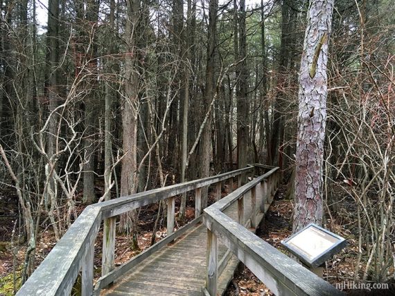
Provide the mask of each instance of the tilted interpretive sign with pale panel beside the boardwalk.
POLYGON ((346 246, 346 240, 311 223, 288 239, 283 246, 309 267, 317 267, 346 246))

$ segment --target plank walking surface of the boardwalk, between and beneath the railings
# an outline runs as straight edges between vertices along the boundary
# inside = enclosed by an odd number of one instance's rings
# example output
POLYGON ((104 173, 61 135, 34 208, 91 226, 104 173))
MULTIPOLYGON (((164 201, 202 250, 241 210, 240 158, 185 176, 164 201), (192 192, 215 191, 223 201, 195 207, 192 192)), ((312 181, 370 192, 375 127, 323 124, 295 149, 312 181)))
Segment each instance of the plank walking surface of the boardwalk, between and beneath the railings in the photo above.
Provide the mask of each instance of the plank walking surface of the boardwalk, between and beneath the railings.
MULTIPOLYGON (((245 221, 248 221, 252 214, 251 196, 246 194, 244 198, 244 216, 245 221)), ((261 198, 261 194, 257 192, 256 205, 261 204, 261 198)), ((266 210, 268 207, 269 204, 265 205, 266 210)), ((260 222, 263 214, 259 212, 259 206, 257 211, 256 221, 260 222)), ((236 220, 237 203, 225 210, 225 214, 236 220)), ((222 243, 218 248, 219 258, 222 258, 227 248, 222 243)), ((112 287, 102 290, 100 295, 202 295, 207 275, 206 252, 207 228, 200 223, 175 242, 168 244, 166 248, 141 262, 112 287)), ((237 265, 238 259, 231 255, 229 263, 218 279, 219 295, 225 292, 237 265)))

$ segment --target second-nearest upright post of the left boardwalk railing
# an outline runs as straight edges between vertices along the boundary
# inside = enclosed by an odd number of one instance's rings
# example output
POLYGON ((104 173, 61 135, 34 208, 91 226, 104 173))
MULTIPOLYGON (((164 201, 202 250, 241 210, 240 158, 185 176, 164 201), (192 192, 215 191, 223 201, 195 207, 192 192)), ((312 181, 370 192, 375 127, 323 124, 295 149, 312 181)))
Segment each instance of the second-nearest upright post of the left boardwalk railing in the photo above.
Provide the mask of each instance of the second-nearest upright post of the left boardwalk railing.
POLYGON ((115 257, 115 222, 116 217, 105 219, 103 222, 103 256, 101 275, 107 275, 114 269, 115 257))

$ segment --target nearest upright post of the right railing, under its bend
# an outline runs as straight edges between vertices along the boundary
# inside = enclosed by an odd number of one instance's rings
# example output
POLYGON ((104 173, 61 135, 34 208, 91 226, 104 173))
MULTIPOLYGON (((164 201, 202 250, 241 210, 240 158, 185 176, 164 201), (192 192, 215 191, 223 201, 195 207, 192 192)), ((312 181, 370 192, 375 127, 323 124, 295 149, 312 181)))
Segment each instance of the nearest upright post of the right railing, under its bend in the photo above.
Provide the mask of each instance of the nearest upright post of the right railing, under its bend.
POLYGON ((207 230, 207 279, 206 289, 211 296, 217 295, 218 282, 218 238, 207 230))

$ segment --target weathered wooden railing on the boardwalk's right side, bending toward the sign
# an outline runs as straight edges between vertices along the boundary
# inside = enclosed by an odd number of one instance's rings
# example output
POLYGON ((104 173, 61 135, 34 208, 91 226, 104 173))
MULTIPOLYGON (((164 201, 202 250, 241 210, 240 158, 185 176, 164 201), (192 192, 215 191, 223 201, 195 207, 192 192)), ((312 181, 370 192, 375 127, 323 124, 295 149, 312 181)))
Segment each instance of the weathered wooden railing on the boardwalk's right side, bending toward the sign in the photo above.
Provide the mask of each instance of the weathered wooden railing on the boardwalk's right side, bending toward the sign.
MULTIPOLYGON (((263 165, 256 167, 268 168, 263 165)), ((203 222, 207 226, 207 279, 203 293, 217 295, 217 282, 226 266, 229 253, 233 253, 275 295, 343 295, 340 290, 317 277, 299 263, 270 246, 244 225, 256 226, 256 194, 262 194, 262 206, 272 197, 279 182, 278 168, 254 178, 231 194, 204 210, 203 222), (243 216, 244 195, 251 194, 252 216, 245 221, 243 216), (223 211, 232 203, 238 203, 238 221, 229 218, 223 211), (218 259, 218 238, 227 246, 222 259, 218 259)))

